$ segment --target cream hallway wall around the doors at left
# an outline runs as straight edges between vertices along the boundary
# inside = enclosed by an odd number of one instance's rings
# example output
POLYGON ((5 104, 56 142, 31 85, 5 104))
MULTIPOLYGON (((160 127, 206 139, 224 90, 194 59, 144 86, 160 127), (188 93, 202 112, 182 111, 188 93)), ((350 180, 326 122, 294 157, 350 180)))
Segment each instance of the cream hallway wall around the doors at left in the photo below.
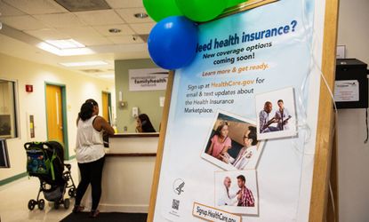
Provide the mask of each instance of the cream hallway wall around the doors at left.
POLYGON ((0 79, 15 80, 18 83, 18 110, 20 138, 8 140, 11 169, 0 169, 0 180, 26 171, 26 154, 23 144, 28 141, 27 113, 35 115, 34 140, 47 139, 44 84, 65 84, 67 91, 68 151, 75 155, 76 116, 85 99, 96 99, 101 104, 101 91, 110 91, 115 110, 115 86, 113 82, 80 75, 66 69, 16 59, 0 53, 0 79), (25 85, 32 84, 34 91, 25 91, 25 85))

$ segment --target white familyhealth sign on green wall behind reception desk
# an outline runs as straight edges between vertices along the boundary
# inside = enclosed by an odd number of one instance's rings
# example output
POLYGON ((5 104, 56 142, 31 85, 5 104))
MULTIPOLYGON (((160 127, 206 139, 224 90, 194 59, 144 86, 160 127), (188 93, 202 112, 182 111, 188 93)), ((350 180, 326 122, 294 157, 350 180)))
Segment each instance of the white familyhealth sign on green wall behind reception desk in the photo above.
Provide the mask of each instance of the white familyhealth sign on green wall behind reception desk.
POLYGON ((145 68, 129 70, 130 91, 164 91, 168 82, 168 70, 145 68))

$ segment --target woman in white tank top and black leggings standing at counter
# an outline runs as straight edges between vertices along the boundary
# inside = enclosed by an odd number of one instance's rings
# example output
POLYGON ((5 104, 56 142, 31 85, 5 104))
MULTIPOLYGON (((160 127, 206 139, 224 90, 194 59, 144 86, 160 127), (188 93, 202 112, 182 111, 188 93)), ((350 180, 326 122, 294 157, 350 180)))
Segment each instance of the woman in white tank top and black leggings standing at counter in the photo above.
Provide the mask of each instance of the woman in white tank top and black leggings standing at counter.
POLYGON ((104 166, 105 152, 102 133, 114 134, 114 129, 108 122, 99 116, 98 103, 87 99, 81 107, 77 118, 76 133, 76 161, 81 173, 81 181, 76 188, 76 204, 73 212, 84 210, 80 206, 87 186, 92 186, 92 209, 90 217, 99 215, 97 210, 101 196, 102 167, 104 166))

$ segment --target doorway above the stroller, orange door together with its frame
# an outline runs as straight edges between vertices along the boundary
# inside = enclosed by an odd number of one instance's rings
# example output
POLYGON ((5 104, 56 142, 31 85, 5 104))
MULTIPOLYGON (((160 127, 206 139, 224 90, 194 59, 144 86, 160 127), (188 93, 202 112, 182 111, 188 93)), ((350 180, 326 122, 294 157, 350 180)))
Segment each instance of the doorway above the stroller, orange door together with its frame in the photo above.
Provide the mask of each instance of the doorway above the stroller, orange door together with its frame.
POLYGON ((47 140, 63 144, 64 159, 68 160, 68 133, 65 85, 45 83, 47 140))

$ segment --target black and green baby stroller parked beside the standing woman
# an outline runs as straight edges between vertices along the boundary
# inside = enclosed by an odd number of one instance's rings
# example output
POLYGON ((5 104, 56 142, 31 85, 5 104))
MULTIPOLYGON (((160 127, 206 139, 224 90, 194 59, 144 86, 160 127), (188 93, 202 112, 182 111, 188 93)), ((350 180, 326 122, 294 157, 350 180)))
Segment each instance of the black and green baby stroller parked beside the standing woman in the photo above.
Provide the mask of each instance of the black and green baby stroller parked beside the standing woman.
POLYGON ((30 177, 37 177, 40 180, 36 200, 28 202, 28 209, 34 210, 38 206, 39 210, 44 210, 44 199, 39 199, 41 192, 49 202, 54 202, 54 208, 58 209, 60 204, 65 209, 69 208, 69 199, 64 199, 64 194, 68 190, 70 197, 76 196, 76 186, 70 175, 70 164, 64 164, 64 149, 59 142, 30 142, 24 145, 27 152, 27 172, 30 177), (67 170, 64 170, 64 167, 67 170))

